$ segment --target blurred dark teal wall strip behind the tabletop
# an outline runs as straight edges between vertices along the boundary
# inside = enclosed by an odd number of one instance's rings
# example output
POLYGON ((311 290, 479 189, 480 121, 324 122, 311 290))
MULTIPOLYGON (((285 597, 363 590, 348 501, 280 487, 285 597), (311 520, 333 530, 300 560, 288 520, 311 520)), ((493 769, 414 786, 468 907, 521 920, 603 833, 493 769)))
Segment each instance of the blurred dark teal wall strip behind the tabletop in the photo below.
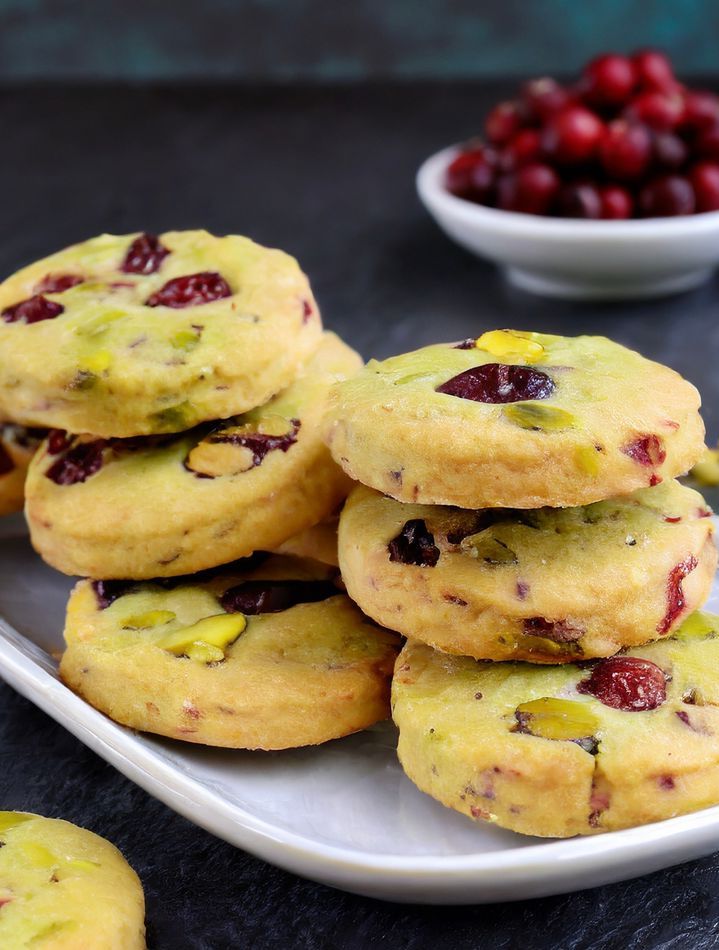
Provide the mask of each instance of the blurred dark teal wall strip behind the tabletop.
POLYGON ((719 71, 717 0, 0 0, 0 80, 569 73, 659 45, 719 71))

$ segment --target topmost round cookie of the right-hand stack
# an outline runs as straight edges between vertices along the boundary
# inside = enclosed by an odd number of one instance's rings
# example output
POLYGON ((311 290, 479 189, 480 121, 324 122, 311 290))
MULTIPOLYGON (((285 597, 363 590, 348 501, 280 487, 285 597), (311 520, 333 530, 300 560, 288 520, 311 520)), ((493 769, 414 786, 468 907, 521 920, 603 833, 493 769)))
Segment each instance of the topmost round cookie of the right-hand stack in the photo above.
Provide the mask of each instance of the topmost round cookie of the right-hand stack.
POLYGON ((605 337, 493 330, 378 363, 334 387, 327 440, 398 501, 585 505, 686 472, 704 449, 699 394, 605 337))

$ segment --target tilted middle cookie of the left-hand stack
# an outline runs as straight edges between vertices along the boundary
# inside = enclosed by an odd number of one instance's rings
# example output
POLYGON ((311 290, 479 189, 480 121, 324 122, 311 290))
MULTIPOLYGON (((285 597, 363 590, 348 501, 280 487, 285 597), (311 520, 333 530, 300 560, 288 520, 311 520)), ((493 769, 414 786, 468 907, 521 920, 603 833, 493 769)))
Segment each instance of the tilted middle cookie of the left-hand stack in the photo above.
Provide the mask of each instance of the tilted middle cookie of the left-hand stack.
POLYGON ((32 542, 66 574, 187 574, 270 550, 349 490, 322 441, 330 384, 357 371, 332 333, 302 375, 241 417, 164 438, 45 442, 26 484, 32 542))

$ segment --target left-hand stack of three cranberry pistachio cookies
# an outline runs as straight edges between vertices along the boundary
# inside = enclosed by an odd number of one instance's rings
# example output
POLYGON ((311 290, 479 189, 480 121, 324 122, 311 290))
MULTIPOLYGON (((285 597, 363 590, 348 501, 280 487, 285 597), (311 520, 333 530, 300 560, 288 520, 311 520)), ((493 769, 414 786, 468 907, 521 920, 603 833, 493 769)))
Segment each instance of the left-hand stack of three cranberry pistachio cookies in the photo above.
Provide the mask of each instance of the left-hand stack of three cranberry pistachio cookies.
POLYGON ((205 231, 103 235, 6 280, 0 315, 0 418, 50 430, 32 542, 87 578, 65 682, 118 722, 239 748, 385 718, 398 638, 301 556, 350 486, 321 423, 361 360, 297 262, 205 231))

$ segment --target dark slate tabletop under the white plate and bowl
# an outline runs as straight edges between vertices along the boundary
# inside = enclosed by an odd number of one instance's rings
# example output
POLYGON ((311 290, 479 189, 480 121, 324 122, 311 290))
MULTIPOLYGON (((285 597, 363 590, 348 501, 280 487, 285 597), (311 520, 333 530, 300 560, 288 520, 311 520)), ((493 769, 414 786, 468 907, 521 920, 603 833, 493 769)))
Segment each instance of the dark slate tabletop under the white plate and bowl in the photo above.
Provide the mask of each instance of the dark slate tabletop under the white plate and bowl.
MULTIPOLYGON (((716 439, 716 280, 650 303, 540 300, 455 248, 419 207, 420 160, 474 131, 504 91, 0 93, 0 272, 102 230, 246 232, 299 256, 327 324, 366 356, 493 326, 606 332, 692 379, 716 439)), ((114 841, 142 877, 150 945, 161 950, 719 945, 717 857, 628 884, 478 908, 383 904, 300 880, 153 801, 4 685, 0 802, 114 841)))

